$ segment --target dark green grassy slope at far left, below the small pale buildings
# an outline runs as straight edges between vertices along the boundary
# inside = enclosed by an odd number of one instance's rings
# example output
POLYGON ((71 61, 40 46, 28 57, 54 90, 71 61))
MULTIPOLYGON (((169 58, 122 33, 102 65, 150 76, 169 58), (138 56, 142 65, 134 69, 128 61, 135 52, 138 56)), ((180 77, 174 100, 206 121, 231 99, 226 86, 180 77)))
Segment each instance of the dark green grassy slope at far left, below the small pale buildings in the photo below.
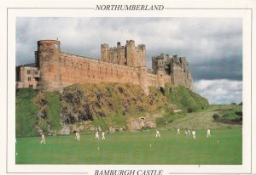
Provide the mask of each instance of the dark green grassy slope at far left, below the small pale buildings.
POLYGON ((37 122, 38 106, 33 99, 37 91, 32 88, 19 89, 16 92, 16 137, 36 136, 35 124, 37 122))

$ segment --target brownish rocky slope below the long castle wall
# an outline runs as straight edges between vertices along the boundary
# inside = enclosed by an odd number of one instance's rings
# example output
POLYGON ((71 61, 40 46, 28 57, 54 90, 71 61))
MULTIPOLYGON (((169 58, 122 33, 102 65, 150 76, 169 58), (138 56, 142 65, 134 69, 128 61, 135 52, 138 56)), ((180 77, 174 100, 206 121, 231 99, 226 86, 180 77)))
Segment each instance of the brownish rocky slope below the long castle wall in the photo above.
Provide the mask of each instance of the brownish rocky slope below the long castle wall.
POLYGON ((92 121, 94 117, 158 111, 169 105, 157 88, 152 88, 147 96, 139 86, 129 83, 73 85, 63 89, 61 104, 61 122, 66 125, 92 121))

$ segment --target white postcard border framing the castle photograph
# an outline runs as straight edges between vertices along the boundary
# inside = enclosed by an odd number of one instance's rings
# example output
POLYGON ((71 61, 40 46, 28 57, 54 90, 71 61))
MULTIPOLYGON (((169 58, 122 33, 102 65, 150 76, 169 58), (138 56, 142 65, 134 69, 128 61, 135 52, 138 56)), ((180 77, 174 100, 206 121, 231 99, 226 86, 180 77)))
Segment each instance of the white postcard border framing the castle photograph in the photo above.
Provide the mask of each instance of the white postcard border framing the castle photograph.
MULTIPOLYGON (((125 4, 123 1, 119 3, 125 4)), ((117 2, 108 1, 109 4, 117 2)), ((8 167, 7 172, 89 172, 94 174, 95 169, 148 169, 148 166, 99 166, 99 165, 83 165, 83 166, 64 166, 64 165, 15 165, 15 18, 16 17, 230 17, 243 19, 243 104, 244 116, 251 116, 251 9, 166 9, 160 12, 131 12, 131 11, 95 11, 84 8, 95 8, 96 4, 102 3, 82 3, 79 9, 64 9, 74 7, 73 3, 62 4, 61 9, 40 9, 40 8, 60 8, 60 3, 35 4, 31 2, 15 3, 9 6, 8 14, 8 167), (39 7, 40 8, 39 8, 39 7), (63 7, 64 6, 64 7, 63 7), (18 7, 18 8, 15 8, 18 7), (21 8, 22 7, 22 8, 21 8), (30 8, 27 7, 38 7, 30 8), (26 8, 26 9, 25 9, 26 8), (67 12, 68 11, 68 12, 67 12)), ((129 3, 144 4, 144 3, 129 3)), ((163 4, 150 2, 149 4, 163 4)), ((166 8, 206 8, 188 4, 164 3, 166 8)), ((242 3, 241 3, 242 4, 242 3)), ((198 4, 197 4, 198 5, 198 4)), ((236 3, 239 6, 239 3, 236 3)), ((78 6, 78 5, 77 5, 78 6)), ((75 8, 75 7, 74 7, 75 8)), ((211 4, 208 8, 224 8, 215 4, 211 4)), ((231 7, 236 8, 236 7, 231 7)), ((241 8, 241 6, 239 6, 241 8)), ((242 8, 247 8, 246 6, 242 8)), ((6 11, 5 11, 6 12, 6 11)), ((1 13, 2 14, 2 13, 1 13)), ((251 172, 251 118, 244 117, 243 124, 243 150, 242 150, 242 166, 150 166, 149 169, 164 170, 164 174, 169 172, 175 173, 250 173, 251 172)), ((6 128, 6 127, 5 127, 6 128)), ((7 150, 7 148, 6 148, 7 150)))

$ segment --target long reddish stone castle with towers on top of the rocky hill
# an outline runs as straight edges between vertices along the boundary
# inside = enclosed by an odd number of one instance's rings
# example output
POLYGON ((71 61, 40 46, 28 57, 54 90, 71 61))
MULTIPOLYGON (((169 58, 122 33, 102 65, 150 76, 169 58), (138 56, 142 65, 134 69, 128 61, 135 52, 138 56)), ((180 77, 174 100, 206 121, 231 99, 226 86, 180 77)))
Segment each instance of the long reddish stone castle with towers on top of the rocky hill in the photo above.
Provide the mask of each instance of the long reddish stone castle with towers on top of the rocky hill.
POLYGON ((148 94, 148 87, 164 88, 166 82, 193 89, 193 79, 184 57, 160 54, 146 67, 146 46, 126 41, 125 46, 101 45, 101 59, 61 52, 57 40, 38 41, 35 63, 16 67, 16 88, 61 91, 74 83, 131 82, 148 94))

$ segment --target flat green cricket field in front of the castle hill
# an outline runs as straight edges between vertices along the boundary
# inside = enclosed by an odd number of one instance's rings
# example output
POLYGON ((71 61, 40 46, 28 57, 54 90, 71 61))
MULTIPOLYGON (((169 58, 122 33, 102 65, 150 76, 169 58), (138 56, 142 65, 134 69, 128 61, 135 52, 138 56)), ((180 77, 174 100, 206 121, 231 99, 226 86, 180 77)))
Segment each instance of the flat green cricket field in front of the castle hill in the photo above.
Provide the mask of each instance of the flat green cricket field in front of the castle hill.
POLYGON ((196 130, 196 139, 177 135, 175 130, 106 134, 96 140, 94 134, 17 138, 16 164, 195 164, 241 165, 241 128, 196 130), (151 144, 151 147, 150 147, 151 144))

